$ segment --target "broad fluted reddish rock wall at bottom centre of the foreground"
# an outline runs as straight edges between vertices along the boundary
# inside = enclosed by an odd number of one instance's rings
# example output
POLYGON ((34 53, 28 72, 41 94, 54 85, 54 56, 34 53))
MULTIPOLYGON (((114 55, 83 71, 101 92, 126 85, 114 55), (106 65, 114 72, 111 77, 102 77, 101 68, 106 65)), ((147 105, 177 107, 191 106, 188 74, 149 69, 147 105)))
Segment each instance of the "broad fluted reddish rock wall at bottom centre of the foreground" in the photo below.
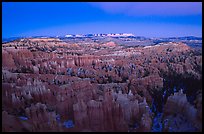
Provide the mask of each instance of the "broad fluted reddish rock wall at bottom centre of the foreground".
POLYGON ((81 130, 91 131, 127 131, 123 112, 119 104, 114 103, 112 95, 106 93, 103 101, 90 100, 73 105, 75 123, 81 130))

